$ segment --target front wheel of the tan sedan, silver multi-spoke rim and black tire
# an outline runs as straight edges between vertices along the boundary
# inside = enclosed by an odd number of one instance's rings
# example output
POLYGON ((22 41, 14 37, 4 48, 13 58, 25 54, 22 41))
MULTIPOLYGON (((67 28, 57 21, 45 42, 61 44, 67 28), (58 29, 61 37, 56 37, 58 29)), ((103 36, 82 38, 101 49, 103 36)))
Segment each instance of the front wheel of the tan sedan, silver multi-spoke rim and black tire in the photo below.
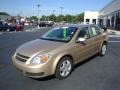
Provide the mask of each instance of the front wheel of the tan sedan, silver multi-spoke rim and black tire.
POLYGON ((55 77, 58 79, 67 78, 73 69, 72 59, 70 57, 63 57, 56 67, 55 77))

